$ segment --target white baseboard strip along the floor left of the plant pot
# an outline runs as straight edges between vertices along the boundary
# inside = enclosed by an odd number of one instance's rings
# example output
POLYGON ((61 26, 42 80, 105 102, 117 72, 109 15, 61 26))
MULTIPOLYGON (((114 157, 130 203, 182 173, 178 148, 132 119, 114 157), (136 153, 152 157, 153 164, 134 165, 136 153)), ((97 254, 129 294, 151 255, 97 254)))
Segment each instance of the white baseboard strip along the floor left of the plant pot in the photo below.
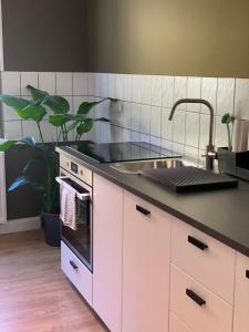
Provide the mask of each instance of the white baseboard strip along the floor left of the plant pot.
POLYGON ((8 220, 4 224, 0 224, 0 235, 39 229, 39 228, 41 228, 40 216, 23 218, 23 219, 13 219, 13 220, 8 220))

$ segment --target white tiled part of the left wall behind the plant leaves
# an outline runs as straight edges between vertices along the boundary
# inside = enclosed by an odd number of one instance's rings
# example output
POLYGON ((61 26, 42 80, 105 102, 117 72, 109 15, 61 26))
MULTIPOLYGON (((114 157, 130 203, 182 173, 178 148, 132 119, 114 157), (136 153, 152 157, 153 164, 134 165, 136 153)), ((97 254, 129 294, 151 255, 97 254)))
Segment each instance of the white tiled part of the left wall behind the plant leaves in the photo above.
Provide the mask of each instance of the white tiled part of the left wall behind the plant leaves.
MULTIPOLYGON (((25 89, 28 84, 48 91, 50 94, 64 96, 74 112, 79 104, 87 100, 87 74, 85 73, 50 73, 50 72, 2 72, 1 92, 13 94, 23 98, 30 98, 25 89)), ((1 105, 4 138, 20 138, 32 135, 40 142, 37 125, 31 121, 21 121, 9 106, 1 105)), ((55 128, 48 123, 48 118, 42 121, 41 128, 46 142, 55 139, 55 128)), ((70 137, 73 139, 73 136, 70 137)))

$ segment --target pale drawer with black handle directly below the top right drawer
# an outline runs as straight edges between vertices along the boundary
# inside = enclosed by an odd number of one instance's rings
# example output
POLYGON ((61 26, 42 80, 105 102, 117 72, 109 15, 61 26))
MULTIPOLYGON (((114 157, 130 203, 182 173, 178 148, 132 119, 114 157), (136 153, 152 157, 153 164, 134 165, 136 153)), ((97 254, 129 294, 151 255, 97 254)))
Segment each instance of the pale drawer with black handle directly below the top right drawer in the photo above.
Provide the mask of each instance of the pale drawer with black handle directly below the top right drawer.
POLYGON ((170 311, 195 332, 231 332, 232 308, 172 264, 170 311))

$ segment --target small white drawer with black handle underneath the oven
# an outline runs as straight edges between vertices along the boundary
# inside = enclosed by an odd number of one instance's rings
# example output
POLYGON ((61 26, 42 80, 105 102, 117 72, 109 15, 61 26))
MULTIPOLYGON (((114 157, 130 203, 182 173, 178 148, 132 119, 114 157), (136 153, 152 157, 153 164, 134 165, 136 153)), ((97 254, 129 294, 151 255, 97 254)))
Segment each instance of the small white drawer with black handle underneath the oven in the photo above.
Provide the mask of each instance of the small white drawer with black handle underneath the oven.
POLYGON ((61 242, 61 269, 92 305, 92 273, 64 242, 61 242))

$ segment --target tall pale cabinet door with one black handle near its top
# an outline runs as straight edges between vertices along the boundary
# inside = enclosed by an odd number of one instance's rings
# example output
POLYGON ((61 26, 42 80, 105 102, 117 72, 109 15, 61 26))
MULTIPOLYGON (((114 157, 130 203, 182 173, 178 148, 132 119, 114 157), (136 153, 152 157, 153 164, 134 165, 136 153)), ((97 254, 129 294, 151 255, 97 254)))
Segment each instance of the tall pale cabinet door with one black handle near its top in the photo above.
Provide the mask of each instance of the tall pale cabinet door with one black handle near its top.
POLYGON ((167 332, 169 216, 124 193, 122 332, 167 332))

